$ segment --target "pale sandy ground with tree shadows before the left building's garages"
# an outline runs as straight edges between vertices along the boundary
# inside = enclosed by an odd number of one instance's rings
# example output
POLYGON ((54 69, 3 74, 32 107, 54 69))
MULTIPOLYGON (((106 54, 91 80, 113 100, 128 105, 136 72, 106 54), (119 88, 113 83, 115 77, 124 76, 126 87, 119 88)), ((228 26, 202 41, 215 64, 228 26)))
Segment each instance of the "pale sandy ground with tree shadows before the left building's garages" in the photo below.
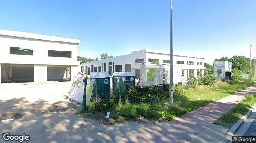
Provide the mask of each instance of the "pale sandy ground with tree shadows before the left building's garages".
MULTIPOLYGON (((66 95, 72 82, 0 84, 1 134, 26 133, 30 143, 105 143, 146 141, 130 137, 143 133, 150 123, 132 121, 105 125, 99 120, 75 115, 81 105, 70 102, 66 95)), ((0 137, 0 143, 5 142, 0 137)), ((8 142, 9 143, 9 142, 8 142)), ((16 143, 16 142, 15 142, 16 143)), ((23 142, 26 143, 26 142, 23 142)))

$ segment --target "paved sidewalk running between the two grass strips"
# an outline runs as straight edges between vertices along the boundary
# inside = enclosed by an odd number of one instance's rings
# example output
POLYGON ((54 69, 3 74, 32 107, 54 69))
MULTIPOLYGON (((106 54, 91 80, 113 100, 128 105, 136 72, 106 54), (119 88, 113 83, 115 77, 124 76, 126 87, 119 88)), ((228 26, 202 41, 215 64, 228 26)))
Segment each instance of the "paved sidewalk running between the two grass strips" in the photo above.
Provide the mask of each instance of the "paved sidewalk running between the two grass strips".
MULTIPOLYGON (((246 95, 256 92, 256 84, 250 86, 246 90, 241 92, 236 92, 233 95, 227 96, 218 100, 216 102, 210 103, 203 106, 193 112, 189 112, 182 117, 174 118, 171 122, 163 122, 156 126, 156 128, 165 128, 166 130, 160 131, 163 136, 167 138, 167 142, 215 142, 212 140, 213 137, 221 139, 228 129, 223 128, 218 125, 213 125, 212 122, 219 119, 223 114, 228 112, 236 104, 245 99, 246 95), (216 132, 219 134, 212 134, 213 132, 208 132, 210 128, 215 128, 216 132), (207 134, 203 133, 204 130, 207 134), (221 136, 222 135, 222 136, 221 136)), ((136 134, 134 136, 139 137, 141 134, 136 134)), ((163 142, 161 138, 154 138, 156 142, 163 142)), ((216 140, 217 141, 217 140, 216 140)), ((217 141, 218 142, 218 141, 217 141)))

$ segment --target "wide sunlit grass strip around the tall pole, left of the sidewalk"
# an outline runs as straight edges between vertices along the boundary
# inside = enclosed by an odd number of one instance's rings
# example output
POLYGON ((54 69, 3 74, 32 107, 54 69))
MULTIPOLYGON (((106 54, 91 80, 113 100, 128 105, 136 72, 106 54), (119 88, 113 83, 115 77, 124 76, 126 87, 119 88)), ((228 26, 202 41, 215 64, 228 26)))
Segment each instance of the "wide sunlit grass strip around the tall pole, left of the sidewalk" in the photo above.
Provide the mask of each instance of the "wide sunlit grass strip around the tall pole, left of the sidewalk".
MULTIPOLYGON (((115 104, 111 109, 108 109, 108 112, 111 112, 111 118, 122 116, 125 118, 136 119, 138 117, 144 117, 157 120, 165 116, 164 120, 172 120, 175 117, 198 109, 206 104, 246 89, 253 83, 255 83, 255 81, 244 81, 233 84, 219 82, 212 86, 204 86, 200 88, 184 86, 182 87, 182 90, 184 91, 183 95, 174 95, 174 106, 171 108, 168 105, 168 99, 165 99, 164 101, 154 104, 115 104)), ((168 94, 168 91, 166 94, 168 94)), ((88 112, 95 113, 94 107, 88 106, 87 110, 88 112)))

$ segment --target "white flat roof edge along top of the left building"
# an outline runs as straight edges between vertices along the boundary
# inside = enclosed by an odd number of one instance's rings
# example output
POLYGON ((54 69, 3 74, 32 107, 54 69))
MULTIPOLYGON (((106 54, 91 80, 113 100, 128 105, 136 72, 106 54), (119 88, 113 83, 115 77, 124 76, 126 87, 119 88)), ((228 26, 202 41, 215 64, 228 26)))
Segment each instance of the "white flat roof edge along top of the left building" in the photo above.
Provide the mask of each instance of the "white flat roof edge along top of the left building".
POLYGON ((70 38, 63 38, 63 37, 57 37, 57 36, 33 34, 33 33, 19 32, 19 31, 8 31, 8 30, 0 29, 0 35, 80 44, 80 40, 78 40, 78 39, 70 39, 70 38))

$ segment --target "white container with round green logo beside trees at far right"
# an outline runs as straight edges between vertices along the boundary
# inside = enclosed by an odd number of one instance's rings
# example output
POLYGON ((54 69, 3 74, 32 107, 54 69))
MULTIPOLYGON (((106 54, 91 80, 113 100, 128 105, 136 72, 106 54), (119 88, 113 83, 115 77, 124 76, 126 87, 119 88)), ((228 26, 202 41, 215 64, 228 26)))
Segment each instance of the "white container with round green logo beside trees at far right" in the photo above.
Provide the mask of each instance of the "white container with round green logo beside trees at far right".
POLYGON ((231 79, 232 63, 228 61, 214 61, 213 76, 218 80, 231 79))

